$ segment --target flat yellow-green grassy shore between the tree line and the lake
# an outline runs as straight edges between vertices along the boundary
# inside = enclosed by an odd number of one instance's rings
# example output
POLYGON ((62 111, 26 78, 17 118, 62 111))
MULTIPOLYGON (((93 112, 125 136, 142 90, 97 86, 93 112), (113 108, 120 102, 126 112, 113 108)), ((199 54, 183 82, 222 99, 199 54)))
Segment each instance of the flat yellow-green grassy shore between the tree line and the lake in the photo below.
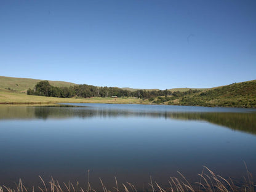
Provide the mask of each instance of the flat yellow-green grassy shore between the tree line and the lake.
MULTIPOLYGON (((156 99, 155 99, 156 100, 156 99)), ((58 106, 58 103, 105 103, 105 104, 141 104, 141 105, 170 105, 170 106, 204 106, 204 107, 228 107, 228 108, 256 108, 237 106, 237 105, 217 105, 213 103, 205 103, 205 105, 184 105, 178 100, 172 103, 153 103, 155 100, 148 100, 148 98, 135 97, 89 97, 89 98, 59 98, 59 97, 43 97, 36 95, 26 95, 24 93, 8 92, 0 89, 0 107, 1 106, 58 106)), ((189 103, 188 103, 189 104, 189 103)))

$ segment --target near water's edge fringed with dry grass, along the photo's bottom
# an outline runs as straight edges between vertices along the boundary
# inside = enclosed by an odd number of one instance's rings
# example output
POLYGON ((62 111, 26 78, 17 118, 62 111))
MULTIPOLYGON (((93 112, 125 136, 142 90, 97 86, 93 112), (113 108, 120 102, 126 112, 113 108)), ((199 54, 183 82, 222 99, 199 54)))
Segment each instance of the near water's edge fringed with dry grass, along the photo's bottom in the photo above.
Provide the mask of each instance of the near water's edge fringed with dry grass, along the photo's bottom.
MULTIPOLYGON (((141 183, 142 185, 137 186, 130 182, 118 182, 117 177, 108 178, 107 181, 102 178, 98 178, 98 186, 92 185, 90 182, 90 170, 85 172, 85 177, 83 182, 58 182, 53 177, 48 180, 38 176, 39 184, 37 186, 25 186, 22 179, 19 179, 15 186, 0 186, 0 192, 23 192, 23 191, 42 191, 42 192, 139 192, 139 191, 151 191, 151 192, 167 192, 167 191, 209 191, 209 192, 227 192, 227 191, 250 191, 254 192, 256 190, 256 185, 253 181, 252 174, 247 169, 246 163, 246 175, 243 175, 241 180, 236 180, 233 178, 223 178, 221 175, 215 174, 208 167, 203 166, 202 172, 198 174, 198 180, 196 182, 191 182, 188 180, 181 172, 177 171, 177 177, 170 177, 167 179, 169 183, 168 186, 161 185, 152 176, 148 178, 147 183, 141 183), (109 180, 112 180, 110 182, 109 180), (109 184, 111 183, 111 186, 109 184), (96 188, 94 188, 96 187, 96 188)), ((139 176, 139 175, 138 175, 139 176)))

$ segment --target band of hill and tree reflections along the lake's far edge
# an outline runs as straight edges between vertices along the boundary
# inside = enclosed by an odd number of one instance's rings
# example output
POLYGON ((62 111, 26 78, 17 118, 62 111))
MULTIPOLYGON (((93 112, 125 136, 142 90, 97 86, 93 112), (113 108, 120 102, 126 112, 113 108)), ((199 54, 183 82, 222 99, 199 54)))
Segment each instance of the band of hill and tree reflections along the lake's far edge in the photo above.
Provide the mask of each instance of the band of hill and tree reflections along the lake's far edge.
POLYGON ((135 108, 98 107, 67 107, 67 106, 4 106, 0 108, 0 120, 3 119, 67 119, 67 118, 165 118, 183 121, 207 121, 233 130, 256 134, 256 113, 240 112, 191 112, 177 110, 148 110, 135 108))

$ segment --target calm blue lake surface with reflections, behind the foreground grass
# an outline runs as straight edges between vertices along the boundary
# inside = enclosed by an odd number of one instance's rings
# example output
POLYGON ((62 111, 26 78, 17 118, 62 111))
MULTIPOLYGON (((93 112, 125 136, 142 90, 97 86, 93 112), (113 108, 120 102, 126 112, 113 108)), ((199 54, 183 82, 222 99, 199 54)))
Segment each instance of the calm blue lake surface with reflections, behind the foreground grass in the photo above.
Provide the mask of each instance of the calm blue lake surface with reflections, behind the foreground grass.
MULTIPOLYGON (((256 174, 256 110, 196 106, 109 105, 0 107, 0 185, 49 181, 92 188, 114 177, 146 188, 177 170, 190 182, 207 166, 241 180, 256 174), (86 106, 86 107, 82 107, 86 106)), ((112 188, 113 189, 113 188, 112 188)))

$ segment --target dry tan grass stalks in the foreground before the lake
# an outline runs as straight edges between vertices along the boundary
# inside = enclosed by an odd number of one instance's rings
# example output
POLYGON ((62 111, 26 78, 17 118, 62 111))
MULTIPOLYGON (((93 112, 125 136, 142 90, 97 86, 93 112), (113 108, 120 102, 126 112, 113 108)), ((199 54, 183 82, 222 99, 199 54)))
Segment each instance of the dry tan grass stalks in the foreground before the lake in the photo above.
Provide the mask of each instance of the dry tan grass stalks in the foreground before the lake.
MULTIPOLYGON (((246 164, 245 164, 246 165, 246 164)), ((247 170, 247 166, 246 166, 247 170)), ((250 191, 254 192, 256 185, 253 183, 252 180, 252 174, 247 170, 247 175, 244 177, 244 182, 240 185, 234 185, 234 182, 231 180, 231 178, 223 178, 220 175, 214 174, 212 170, 204 166, 204 169, 202 170, 201 174, 199 175, 199 182, 196 183, 190 183, 188 180, 186 180, 185 176, 182 175, 180 172, 180 178, 177 177, 170 177, 169 187, 162 188, 160 185, 158 185, 157 182, 153 182, 152 177, 150 177, 150 183, 148 183, 148 186, 150 186, 150 192, 185 192, 185 191, 191 191, 191 192, 201 192, 201 191, 207 191, 207 192, 236 192, 236 191, 250 191)), ((0 186, 0 192, 28 192, 28 191, 41 191, 41 192, 96 192, 90 186, 89 182, 89 170, 87 172, 87 186, 84 186, 82 188, 79 186, 79 183, 76 182, 75 185, 73 183, 59 183, 58 180, 54 180, 54 178, 51 177, 49 183, 45 183, 41 176, 39 176, 42 186, 34 187, 32 186, 31 190, 28 190, 23 184, 22 180, 20 179, 18 184, 16 184, 16 188, 9 188, 5 185, 0 186)), ((113 186, 113 188, 106 188, 101 178, 99 178, 100 186, 102 186, 103 192, 137 192, 137 189, 132 183, 121 183, 118 184, 118 180, 116 177, 114 177, 116 186, 113 186)), ((144 192, 144 190, 143 190, 144 192)))

